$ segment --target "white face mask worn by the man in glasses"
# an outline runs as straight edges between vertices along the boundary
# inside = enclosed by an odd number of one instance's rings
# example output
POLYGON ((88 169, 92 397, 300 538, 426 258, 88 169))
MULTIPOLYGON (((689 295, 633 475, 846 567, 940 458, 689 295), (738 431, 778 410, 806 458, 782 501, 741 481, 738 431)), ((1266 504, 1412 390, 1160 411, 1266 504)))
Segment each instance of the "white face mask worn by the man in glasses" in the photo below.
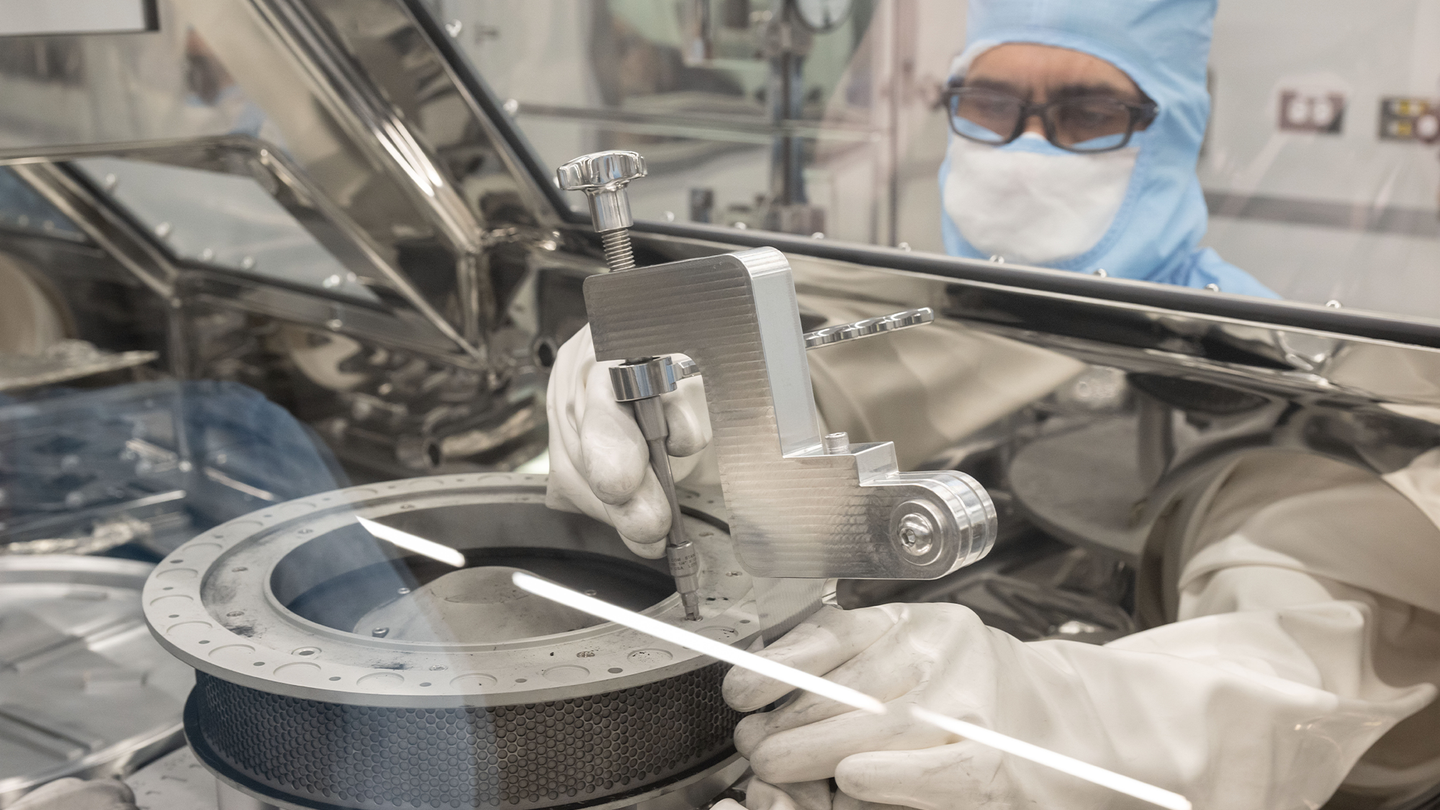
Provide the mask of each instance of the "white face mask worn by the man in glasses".
POLYGON ((1034 133, 1002 147, 952 135, 945 212, 981 252, 1041 265, 1077 257, 1109 231, 1138 154, 1077 154, 1034 133))

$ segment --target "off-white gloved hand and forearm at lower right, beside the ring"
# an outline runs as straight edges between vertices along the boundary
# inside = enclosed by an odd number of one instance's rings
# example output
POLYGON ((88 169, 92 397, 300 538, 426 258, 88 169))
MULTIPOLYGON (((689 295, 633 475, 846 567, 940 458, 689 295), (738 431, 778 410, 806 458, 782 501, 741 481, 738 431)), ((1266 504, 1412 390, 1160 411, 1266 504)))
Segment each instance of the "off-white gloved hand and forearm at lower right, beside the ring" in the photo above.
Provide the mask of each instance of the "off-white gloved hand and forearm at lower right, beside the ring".
MULTIPOLYGON (((1320 601, 1194 618, 1107 647, 1021 643, 952 604, 822 608, 762 654, 887 702, 887 715, 802 693, 744 718, 736 748, 772 784, 834 777, 860 801, 952 807, 1143 806, 919 724, 909 706, 1187 796, 1197 809, 1318 807, 1434 687, 1380 682, 1369 605, 1320 601)), ((733 669, 726 700, 789 687, 733 669)))

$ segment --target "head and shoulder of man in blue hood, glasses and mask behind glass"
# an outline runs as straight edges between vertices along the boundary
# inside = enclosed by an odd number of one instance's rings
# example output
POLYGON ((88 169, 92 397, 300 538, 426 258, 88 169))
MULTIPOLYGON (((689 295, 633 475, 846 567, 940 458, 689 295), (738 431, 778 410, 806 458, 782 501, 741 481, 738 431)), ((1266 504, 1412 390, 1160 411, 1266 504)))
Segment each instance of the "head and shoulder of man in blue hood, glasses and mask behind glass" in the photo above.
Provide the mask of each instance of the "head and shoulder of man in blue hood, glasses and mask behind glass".
POLYGON ((1274 298, 1198 248, 1212 17, 1211 1, 972 3, 946 95, 946 252, 1274 298))

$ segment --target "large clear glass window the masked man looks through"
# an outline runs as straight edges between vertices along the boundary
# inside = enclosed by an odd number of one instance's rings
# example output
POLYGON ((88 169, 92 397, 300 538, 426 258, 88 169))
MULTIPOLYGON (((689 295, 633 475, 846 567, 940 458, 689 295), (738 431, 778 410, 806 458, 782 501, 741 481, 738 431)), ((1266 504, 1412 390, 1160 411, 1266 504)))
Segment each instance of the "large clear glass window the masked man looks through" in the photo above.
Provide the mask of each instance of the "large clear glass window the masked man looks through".
MULTIPOLYGON (((975 258, 995 254, 1012 264, 1437 314, 1440 274, 1431 268, 1440 261, 1440 164, 1431 144, 1440 140, 1440 14, 1418 0, 1378 7, 1331 0, 1323 13, 1312 6, 1297 13, 1284 0, 1223 3, 1208 55, 1197 50, 1189 59, 1189 68, 1204 68, 1208 76, 1205 138, 1165 150, 1164 160, 1184 173, 1198 146, 1205 206, 1185 192, 1191 202, 1184 205, 1195 212, 1195 223, 1185 228, 1136 225, 1133 212, 1153 209, 1152 199, 1116 213, 1126 193, 1149 193, 1126 184, 1133 173, 1116 180, 1116 172, 1096 169, 1113 166, 1123 148, 1109 159, 1089 156, 1089 169, 1058 154, 1071 169, 1048 166, 1032 200, 996 179, 995 172, 1012 167, 989 172, 994 161, 968 153, 972 163, 950 164, 948 196, 939 176, 962 138, 948 125, 942 97, 952 61, 968 36, 978 36, 968 32, 962 3, 815 3, 840 19, 821 30, 806 23, 812 4, 789 1, 612 0, 580 13, 563 1, 528 3, 523 12, 485 0, 429 6, 507 101, 544 164, 602 148, 645 154, 651 176, 631 192, 642 218, 822 232, 975 258), (1115 190, 1109 209, 1086 202, 1106 197, 1107 189, 1115 190), (1068 213, 1058 226, 1037 225, 1054 216, 1051 209, 1068 213), (963 221, 956 225, 963 246, 945 236, 946 221, 956 218, 963 221), (1066 229, 1073 233, 1066 236, 1066 229), (1129 254, 1166 241, 1184 242, 1184 251, 1146 265, 1103 249, 1104 241, 1128 238, 1129 254)), ((1169 32, 1116 23, 1112 36, 1097 13, 1073 16, 1064 23, 1071 33, 1109 37, 1122 49, 1208 23, 1205 14, 1169 32)), ((1162 65, 1181 65, 1175 53, 1126 76, 1142 95, 1171 99, 1159 105, 1159 130, 1166 114, 1194 101, 1176 102, 1152 75, 1162 65)), ((1096 58, 1103 56, 1123 61, 1113 53, 1096 58)), ((1028 76, 1051 68, 1012 61, 1005 69, 1028 76)), ((989 74, 994 78, 994 65, 989 74)), ((1197 98, 1204 102, 1204 92, 1197 98)), ((1038 130, 1038 118, 1030 125, 1038 130)), ((956 128, 963 127, 960 121, 956 128)), ((1138 133, 1143 130, 1140 124, 1138 133)), ((1136 134, 1126 148, 1153 154, 1162 137, 1171 135, 1136 134)))

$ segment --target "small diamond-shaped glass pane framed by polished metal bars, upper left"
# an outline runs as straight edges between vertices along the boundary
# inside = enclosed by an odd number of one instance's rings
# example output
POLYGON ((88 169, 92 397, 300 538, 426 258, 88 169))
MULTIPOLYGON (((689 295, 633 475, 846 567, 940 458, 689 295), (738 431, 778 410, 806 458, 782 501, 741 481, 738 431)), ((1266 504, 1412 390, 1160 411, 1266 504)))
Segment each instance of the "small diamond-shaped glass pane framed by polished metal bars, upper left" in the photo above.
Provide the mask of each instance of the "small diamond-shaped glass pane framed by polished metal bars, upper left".
POLYGON ((376 300, 252 177, 112 157, 75 166, 177 257, 376 300))

